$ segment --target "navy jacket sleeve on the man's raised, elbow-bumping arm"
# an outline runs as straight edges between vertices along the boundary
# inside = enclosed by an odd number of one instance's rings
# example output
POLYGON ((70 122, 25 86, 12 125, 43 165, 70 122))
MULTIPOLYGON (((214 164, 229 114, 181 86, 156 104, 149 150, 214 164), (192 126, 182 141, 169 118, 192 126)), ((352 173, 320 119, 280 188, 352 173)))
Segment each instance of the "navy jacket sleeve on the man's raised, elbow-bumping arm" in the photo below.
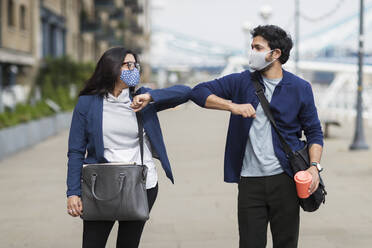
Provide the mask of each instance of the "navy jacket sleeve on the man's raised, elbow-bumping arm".
POLYGON ((200 83, 192 89, 191 100, 200 107, 205 106, 205 101, 212 94, 232 100, 233 92, 235 92, 236 85, 240 80, 241 73, 234 73, 209 82, 200 83))

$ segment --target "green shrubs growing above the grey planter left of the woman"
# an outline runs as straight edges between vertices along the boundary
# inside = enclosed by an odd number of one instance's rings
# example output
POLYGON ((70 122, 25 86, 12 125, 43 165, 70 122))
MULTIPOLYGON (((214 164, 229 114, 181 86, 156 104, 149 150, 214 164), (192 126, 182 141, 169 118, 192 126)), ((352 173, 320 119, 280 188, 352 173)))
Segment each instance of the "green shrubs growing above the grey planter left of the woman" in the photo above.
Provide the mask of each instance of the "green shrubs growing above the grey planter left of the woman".
MULTIPOLYGON (((31 91, 33 95, 36 87, 40 87, 41 101, 34 105, 17 104, 14 110, 6 109, 0 113, 0 129, 53 115, 54 111, 46 104, 46 99, 57 103, 62 111, 72 110, 77 97, 70 97, 71 85, 81 89, 93 70, 92 63, 77 63, 69 57, 47 58, 39 69, 35 87, 31 91)), ((31 99, 28 102, 32 102, 31 99)))

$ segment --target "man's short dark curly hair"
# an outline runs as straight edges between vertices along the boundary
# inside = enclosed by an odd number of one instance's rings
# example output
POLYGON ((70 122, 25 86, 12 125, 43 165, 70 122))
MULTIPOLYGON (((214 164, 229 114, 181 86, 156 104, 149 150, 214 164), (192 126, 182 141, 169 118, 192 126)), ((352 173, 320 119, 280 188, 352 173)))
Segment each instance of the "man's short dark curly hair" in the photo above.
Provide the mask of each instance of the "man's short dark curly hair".
POLYGON ((282 55, 279 61, 285 64, 289 59, 289 54, 293 46, 292 38, 282 28, 275 25, 264 25, 254 28, 251 32, 252 37, 261 36, 268 43, 270 49, 280 49, 282 55))

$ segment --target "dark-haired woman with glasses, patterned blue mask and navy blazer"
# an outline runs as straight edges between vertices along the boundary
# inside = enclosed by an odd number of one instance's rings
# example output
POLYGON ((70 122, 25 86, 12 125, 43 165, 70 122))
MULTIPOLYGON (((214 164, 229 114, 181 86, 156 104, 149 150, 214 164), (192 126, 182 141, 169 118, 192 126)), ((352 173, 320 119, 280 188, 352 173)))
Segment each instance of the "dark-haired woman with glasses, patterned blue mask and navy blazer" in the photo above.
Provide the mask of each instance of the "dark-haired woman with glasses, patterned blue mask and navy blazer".
MULTIPOLYGON (((137 111, 141 111, 145 131, 144 164, 148 167, 146 189, 150 209, 158 193, 152 154, 157 155, 173 182, 157 111, 187 102, 191 90, 182 85, 158 90, 142 87, 132 100, 131 93, 140 79, 139 70, 136 54, 121 47, 109 49, 79 94, 68 143, 67 211, 71 216, 82 215, 84 209, 80 198, 83 164, 141 163, 137 111)), ((83 247, 105 247, 113 225, 114 221, 84 220, 83 247)), ((144 225, 143 221, 119 221, 117 247, 138 247, 144 225)))

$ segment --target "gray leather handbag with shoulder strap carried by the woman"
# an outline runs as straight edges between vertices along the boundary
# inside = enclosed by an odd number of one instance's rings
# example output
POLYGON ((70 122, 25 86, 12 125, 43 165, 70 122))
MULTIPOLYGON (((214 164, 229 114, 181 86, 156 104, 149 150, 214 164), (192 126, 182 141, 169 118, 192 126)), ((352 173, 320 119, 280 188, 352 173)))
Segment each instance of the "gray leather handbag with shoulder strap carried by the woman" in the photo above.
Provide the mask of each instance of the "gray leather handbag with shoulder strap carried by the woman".
POLYGON ((81 177, 82 219, 111 221, 149 219, 147 167, 143 164, 143 125, 139 112, 136 116, 142 164, 84 165, 81 177))

